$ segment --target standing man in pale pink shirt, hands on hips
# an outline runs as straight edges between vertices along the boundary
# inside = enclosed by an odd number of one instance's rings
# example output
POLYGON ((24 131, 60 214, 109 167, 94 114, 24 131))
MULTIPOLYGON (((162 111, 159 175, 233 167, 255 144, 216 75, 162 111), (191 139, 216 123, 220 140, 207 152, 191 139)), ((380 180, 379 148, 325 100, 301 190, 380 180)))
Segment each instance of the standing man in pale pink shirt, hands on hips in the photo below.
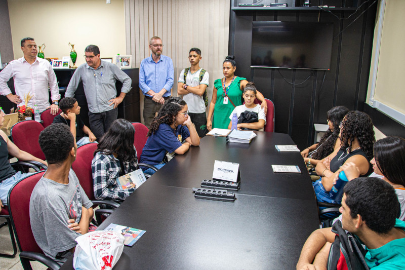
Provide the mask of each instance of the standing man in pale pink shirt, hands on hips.
POLYGON ((51 64, 45 59, 36 57, 38 51, 32 37, 25 37, 21 40, 21 50, 24 57, 11 61, 0 72, 0 94, 18 106, 26 105, 34 108, 36 105, 41 112, 51 108, 51 113, 55 115, 59 110, 60 95, 51 64), (14 78, 15 95, 11 93, 7 85, 11 78, 14 78), (52 105, 49 104, 48 86, 51 89, 52 105), (28 93, 33 97, 28 104, 25 104, 24 95, 26 96, 28 93))

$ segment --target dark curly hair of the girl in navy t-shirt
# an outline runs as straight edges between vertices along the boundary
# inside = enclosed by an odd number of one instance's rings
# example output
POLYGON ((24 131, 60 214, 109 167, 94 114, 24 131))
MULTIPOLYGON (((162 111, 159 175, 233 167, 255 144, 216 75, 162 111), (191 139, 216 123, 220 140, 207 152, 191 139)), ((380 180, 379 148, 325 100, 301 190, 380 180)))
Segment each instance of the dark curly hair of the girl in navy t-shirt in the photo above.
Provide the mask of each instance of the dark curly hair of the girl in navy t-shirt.
POLYGON ((165 103, 160 110, 157 112, 157 116, 150 123, 148 137, 154 134, 158 129, 160 124, 168 124, 169 126, 176 120, 176 115, 181 111, 187 103, 179 97, 171 97, 168 102, 165 103))

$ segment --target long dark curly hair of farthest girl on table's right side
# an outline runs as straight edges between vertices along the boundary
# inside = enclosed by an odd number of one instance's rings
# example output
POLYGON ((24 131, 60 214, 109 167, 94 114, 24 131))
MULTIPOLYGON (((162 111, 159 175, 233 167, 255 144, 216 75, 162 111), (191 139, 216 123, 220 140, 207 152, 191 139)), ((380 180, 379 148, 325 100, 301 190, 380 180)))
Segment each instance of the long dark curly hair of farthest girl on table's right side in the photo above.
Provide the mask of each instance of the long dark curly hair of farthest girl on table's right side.
POLYGON ((335 143, 339 137, 340 132, 340 122, 342 122, 345 115, 349 112, 349 109, 345 106, 336 106, 328 110, 327 117, 330 122, 333 124, 333 131, 328 129, 327 132, 322 136, 314 152, 311 156, 311 159, 321 160, 323 158, 331 155, 335 148, 335 143))

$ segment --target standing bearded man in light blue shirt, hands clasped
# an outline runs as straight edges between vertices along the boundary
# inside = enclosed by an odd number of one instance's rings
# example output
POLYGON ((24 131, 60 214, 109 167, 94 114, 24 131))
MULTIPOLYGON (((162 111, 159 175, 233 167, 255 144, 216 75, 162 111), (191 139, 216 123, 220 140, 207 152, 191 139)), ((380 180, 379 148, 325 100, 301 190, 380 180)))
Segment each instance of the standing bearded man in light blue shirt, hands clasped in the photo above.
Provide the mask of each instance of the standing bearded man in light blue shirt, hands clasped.
POLYGON ((170 98, 174 78, 172 59, 161 55, 163 44, 160 37, 150 38, 149 50, 152 55, 143 59, 139 68, 139 87, 145 95, 143 119, 148 128, 161 105, 170 98))

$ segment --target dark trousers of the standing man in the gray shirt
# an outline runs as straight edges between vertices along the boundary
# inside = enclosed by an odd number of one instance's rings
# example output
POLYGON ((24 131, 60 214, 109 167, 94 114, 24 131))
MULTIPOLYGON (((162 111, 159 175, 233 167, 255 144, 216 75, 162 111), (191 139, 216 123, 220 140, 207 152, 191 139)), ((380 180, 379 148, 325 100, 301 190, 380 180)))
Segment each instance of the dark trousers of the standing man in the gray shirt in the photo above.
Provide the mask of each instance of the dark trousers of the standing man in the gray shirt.
POLYGON ((101 137, 107 132, 112 122, 114 122, 117 117, 118 107, 96 113, 89 111, 90 130, 94 133, 94 136, 96 136, 97 141, 100 141, 101 137))

